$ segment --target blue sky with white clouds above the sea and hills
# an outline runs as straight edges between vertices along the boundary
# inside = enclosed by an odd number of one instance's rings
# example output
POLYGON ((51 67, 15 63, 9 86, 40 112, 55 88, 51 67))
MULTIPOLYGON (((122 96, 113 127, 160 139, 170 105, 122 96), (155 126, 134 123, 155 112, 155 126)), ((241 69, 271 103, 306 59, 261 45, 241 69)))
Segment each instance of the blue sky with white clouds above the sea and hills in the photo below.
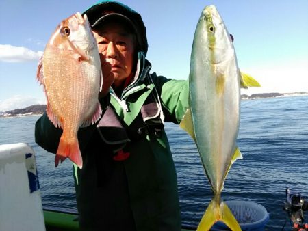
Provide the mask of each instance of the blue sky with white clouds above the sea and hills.
MULTIPOLYGON (((0 111, 46 103, 38 60, 58 23, 92 0, 0 1, 0 111)), ((216 5, 233 34, 238 65, 261 87, 242 94, 308 92, 308 0, 123 0, 146 25, 151 72, 188 79, 196 23, 216 5)))

